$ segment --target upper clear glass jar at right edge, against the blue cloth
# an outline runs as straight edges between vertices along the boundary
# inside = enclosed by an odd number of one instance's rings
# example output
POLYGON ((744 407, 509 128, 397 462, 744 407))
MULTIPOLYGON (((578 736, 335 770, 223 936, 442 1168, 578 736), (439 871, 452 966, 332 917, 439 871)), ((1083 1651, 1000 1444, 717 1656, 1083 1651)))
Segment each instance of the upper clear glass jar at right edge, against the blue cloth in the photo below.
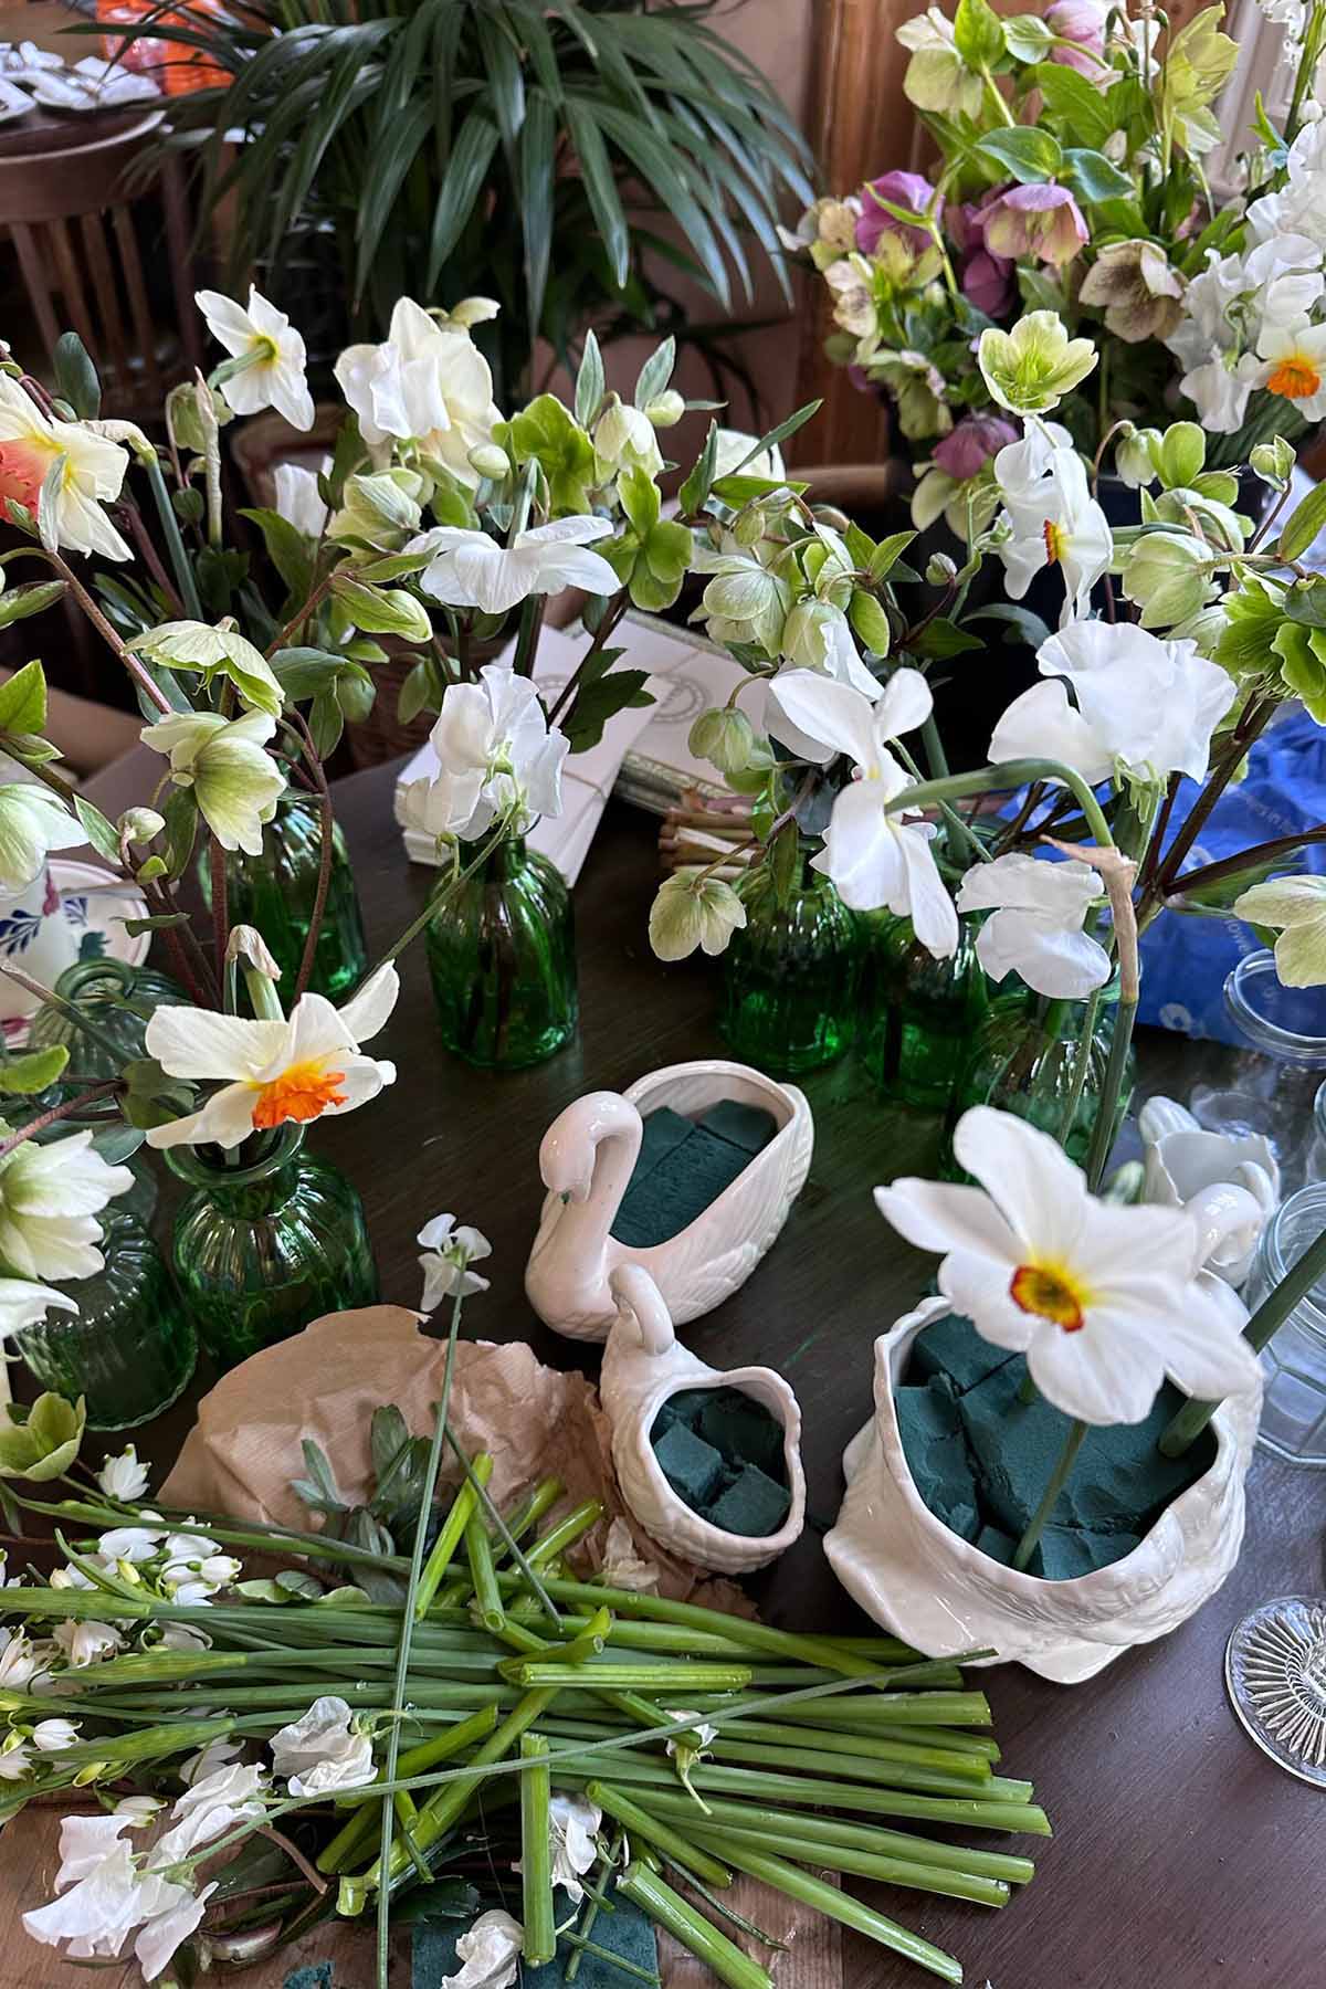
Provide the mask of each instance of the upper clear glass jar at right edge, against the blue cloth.
POLYGON ((1326 987, 1286 989, 1274 953, 1244 953, 1225 979, 1225 1012, 1246 1048, 1223 1084, 1197 1084, 1189 1108, 1209 1132, 1262 1134, 1280 1187, 1310 1168, 1312 1110, 1326 1072, 1326 987))

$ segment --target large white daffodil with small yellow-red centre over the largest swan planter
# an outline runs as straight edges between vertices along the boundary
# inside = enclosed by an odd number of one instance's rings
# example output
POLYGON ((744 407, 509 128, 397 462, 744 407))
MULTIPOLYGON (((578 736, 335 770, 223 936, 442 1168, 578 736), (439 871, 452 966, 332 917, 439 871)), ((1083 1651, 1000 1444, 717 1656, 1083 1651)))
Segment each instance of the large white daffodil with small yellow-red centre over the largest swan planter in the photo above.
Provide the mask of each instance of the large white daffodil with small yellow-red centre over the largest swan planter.
POLYGON ((1237 1319, 1197 1283, 1185 1209, 1099 1201, 1050 1134, 990 1106, 962 1114, 952 1150, 980 1187, 907 1177, 875 1201, 909 1243, 944 1253, 954 1313, 1024 1353, 1048 1402, 1141 1422, 1167 1374, 1207 1402, 1256 1386, 1237 1319))

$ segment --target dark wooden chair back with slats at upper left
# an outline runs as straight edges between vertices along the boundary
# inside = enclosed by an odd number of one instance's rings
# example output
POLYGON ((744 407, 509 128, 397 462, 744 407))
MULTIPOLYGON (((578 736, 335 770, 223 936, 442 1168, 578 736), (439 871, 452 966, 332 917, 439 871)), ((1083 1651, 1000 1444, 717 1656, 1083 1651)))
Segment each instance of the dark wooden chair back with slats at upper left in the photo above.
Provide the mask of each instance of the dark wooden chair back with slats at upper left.
POLYGON ((50 352, 60 332, 78 332, 101 374, 103 414, 153 426, 165 390, 203 360, 181 165, 165 155, 151 179, 129 177, 159 125, 149 109, 38 113, 0 129, 0 229, 42 342, 50 352))

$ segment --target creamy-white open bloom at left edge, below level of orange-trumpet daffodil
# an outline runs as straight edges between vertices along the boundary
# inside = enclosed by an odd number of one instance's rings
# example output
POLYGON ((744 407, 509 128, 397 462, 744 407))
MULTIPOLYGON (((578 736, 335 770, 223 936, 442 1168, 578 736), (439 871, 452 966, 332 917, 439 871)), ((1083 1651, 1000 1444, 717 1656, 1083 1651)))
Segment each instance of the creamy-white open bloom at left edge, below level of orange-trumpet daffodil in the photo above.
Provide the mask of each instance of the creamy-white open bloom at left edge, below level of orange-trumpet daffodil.
POLYGON ((93 1277, 105 1263, 97 1215, 131 1187, 131 1172, 101 1160, 89 1132, 24 1140, 0 1160, 0 1259, 24 1277, 93 1277))

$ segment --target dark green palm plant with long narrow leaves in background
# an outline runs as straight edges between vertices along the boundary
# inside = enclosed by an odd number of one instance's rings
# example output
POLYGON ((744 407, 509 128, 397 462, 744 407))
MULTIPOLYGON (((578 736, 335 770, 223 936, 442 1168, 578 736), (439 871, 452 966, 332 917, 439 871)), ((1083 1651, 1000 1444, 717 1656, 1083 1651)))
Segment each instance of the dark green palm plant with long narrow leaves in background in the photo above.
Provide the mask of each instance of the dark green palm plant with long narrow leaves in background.
POLYGON ((539 336, 563 360, 590 320, 686 336, 646 257, 730 310, 755 245, 787 294, 775 201, 779 183, 809 197, 809 149, 716 4, 171 0, 135 32, 227 76, 165 107, 203 153, 205 211, 235 195, 237 271, 280 292, 308 233, 334 237, 342 338, 380 336, 400 294, 495 294, 489 358, 515 402, 539 336))

